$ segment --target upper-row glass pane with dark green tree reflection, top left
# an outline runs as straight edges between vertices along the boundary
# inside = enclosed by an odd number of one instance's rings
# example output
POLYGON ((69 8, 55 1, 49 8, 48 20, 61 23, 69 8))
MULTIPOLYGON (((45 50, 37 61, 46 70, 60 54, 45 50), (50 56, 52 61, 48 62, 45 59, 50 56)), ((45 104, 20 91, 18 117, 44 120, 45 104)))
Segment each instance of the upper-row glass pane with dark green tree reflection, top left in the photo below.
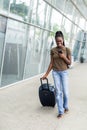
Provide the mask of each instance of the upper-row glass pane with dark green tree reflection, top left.
POLYGON ((10 16, 19 20, 27 20, 30 0, 11 0, 10 1, 10 16))

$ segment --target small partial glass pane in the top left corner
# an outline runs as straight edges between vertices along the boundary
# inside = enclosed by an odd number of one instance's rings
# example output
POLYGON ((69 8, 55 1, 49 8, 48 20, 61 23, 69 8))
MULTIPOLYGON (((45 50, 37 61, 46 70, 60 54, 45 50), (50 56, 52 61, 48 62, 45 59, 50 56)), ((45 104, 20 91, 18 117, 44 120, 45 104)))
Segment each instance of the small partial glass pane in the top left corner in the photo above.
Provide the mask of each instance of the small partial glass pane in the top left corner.
POLYGON ((0 0, 0 13, 7 14, 9 10, 10 0, 0 0))

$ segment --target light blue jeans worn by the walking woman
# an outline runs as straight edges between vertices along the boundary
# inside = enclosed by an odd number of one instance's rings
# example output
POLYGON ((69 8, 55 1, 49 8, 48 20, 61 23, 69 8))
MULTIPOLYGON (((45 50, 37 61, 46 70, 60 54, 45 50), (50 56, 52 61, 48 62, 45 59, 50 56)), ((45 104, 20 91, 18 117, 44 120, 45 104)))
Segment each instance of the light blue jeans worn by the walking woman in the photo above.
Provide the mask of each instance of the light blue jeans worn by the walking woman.
POLYGON ((58 113, 63 114, 64 109, 68 109, 68 72, 52 71, 54 85, 56 89, 56 103, 58 106, 58 113))

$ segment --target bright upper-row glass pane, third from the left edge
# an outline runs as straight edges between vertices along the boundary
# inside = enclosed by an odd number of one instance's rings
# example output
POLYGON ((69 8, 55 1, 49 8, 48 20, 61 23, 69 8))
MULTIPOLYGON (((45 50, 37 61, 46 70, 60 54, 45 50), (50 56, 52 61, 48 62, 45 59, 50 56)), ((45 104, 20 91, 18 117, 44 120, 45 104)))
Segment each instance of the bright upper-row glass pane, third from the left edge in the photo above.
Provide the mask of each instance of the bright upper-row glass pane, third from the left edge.
POLYGON ((32 23, 50 29, 52 9, 42 0, 34 1, 32 23))

